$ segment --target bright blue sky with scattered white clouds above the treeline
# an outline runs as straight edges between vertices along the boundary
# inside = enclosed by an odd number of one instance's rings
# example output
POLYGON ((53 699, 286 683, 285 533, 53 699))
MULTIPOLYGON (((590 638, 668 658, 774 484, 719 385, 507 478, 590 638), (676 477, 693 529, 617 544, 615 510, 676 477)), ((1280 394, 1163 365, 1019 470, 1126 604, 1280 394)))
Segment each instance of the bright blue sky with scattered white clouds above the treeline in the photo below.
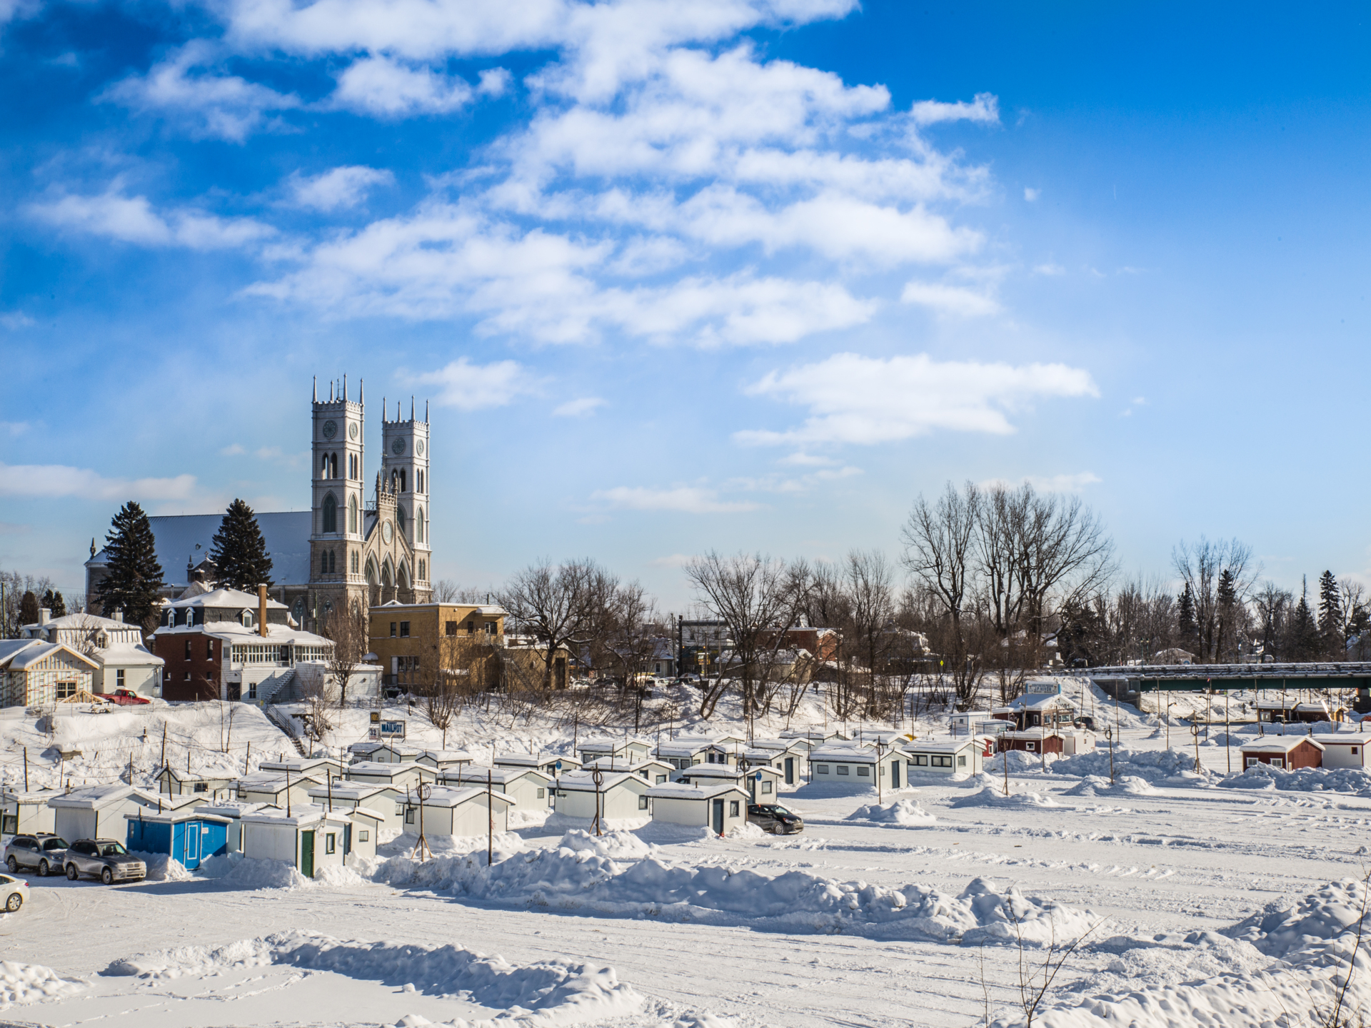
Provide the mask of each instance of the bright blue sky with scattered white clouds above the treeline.
POLYGON ((435 569, 898 552, 947 478, 1124 566, 1371 577, 1346 7, 0 0, 0 565, 299 509, 432 402, 435 569))

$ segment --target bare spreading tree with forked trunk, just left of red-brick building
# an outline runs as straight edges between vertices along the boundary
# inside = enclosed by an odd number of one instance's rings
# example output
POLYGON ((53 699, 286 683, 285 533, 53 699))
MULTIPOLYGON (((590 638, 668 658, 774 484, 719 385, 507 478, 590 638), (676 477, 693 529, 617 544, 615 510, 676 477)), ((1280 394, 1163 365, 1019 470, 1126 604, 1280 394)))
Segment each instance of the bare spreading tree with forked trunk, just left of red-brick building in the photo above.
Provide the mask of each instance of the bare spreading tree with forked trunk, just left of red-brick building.
MULTIPOLYGON (((755 685, 761 661, 787 643, 801 617, 813 578, 803 562, 786 563, 760 554, 721 556, 710 551, 686 565, 701 603, 728 626, 733 670, 738 673, 743 715, 761 711, 755 685)), ((713 689, 703 689, 701 717, 712 717, 724 692, 724 672, 713 689)))

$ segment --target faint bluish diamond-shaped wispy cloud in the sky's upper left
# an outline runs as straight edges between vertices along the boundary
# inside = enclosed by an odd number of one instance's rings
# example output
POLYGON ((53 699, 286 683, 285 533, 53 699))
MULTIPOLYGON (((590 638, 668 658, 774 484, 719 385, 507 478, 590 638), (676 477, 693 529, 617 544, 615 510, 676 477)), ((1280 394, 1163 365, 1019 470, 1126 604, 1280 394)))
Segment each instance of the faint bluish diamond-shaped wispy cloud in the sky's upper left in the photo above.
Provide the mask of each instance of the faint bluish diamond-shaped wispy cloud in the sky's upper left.
POLYGON ((154 64, 147 75, 132 75, 100 95, 143 114, 162 114, 185 122, 192 134, 241 143, 270 112, 300 107, 289 93, 248 82, 239 75, 199 73, 218 63, 219 49, 195 40, 154 64))

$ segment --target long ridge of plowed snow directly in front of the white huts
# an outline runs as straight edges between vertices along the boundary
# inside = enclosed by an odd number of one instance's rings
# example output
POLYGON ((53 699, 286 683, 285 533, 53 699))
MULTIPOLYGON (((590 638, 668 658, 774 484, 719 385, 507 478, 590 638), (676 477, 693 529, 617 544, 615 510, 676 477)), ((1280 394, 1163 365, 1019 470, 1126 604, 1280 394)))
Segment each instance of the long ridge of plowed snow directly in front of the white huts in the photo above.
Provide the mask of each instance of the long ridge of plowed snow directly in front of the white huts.
POLYGON ((377 870, 391 885, 447 891, 500 906, 557 909, 610 917, 651 917, 760 931, 842 932, 882 939, 1005 942, 1010 913, 1024 940, 1038 944, 1084 931, 1086 914, 1050 901, 999 892, 976 879, 950 896, 928 885, 887 888, 794 870, 768 877, 731 866, 670 864, 654 857, 617 861, 588 847, 532 850, 485 866, 485 854, 424 864, 392 858, 377 870))

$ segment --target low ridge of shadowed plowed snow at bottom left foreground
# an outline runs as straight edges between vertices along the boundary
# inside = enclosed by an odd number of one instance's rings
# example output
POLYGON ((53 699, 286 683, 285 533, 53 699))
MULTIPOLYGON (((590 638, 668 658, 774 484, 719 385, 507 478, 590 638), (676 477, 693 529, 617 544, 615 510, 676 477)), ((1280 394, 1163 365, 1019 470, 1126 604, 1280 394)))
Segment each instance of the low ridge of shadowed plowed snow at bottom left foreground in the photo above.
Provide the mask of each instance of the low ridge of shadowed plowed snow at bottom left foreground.
POLYGON ((185 946, 129 957, 115 961, 103 973, 175 979, 269 964, 332 972, 432 995, 463 994, 480 1006, 517 1017, 520 1025, 529 1028, 600 1023, 633 1014, 643 1006, 643 998, 621 984, 613 968, 565 961, 515 966, 502 957, 485 957, 455 946, 367 943, 303 931, 218 949, 185 946))

